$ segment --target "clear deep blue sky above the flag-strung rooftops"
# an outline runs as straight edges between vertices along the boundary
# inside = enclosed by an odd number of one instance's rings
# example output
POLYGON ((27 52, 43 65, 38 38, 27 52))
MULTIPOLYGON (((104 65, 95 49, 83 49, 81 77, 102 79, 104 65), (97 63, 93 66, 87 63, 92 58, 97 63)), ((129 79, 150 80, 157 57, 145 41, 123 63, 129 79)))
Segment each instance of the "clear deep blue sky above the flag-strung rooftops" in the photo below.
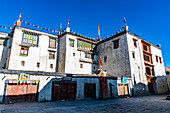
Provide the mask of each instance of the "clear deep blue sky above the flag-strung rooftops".
POLYGON ((71 29, 89 37, 97 37, 99 24, 106 37, 118 31, 126 17, 131 32, 161 44, 165 66, 170 66, 169 6, 168 0, 1 0, 0 25, 12 27, 22 13, 23 21, 55 30, 60 23, 67 26, 69 19, 71 29))

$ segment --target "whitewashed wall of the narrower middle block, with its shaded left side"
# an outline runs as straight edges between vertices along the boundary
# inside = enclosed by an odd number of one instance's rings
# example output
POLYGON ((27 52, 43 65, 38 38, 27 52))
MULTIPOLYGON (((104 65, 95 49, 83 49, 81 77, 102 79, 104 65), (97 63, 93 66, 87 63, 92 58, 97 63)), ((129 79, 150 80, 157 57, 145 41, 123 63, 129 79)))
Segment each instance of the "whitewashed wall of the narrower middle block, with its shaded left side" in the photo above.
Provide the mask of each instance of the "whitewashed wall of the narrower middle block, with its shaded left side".
MULTIPOLYGON (((92 58, 85 58, 85 51, 78 50, 77 42, 81 36, 72 33, 65 33, 59 37, 59 64, 58 72, 67 74, 92 74, 94 70, 94 61, 92 58), (69 40, 74 40, 74 47, 69 45, 69 40), (85 61, 85 62, 83 62, 85 61), (82 65, 82 68, 81 66, 82 65)), ((87 41, 91 41, 88 40, 87 41)), ((92 43, 96 43, 95 41, 92 43)), ((93 54, 93 53, 88 53, 93 54)), ((97 58, 97 55, 94 55, 97 58)), ((95 65, 97 67, 97 65, 95 65)), ((95 68, 97 70, 97 68, 95 68)))

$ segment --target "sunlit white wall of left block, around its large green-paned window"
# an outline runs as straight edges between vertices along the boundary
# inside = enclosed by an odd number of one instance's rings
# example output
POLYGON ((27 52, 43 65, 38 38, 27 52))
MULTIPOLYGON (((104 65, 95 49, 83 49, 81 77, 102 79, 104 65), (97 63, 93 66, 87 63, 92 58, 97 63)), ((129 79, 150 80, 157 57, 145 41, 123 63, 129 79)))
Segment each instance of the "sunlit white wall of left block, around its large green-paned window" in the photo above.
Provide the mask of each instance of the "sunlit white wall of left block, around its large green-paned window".
POLYGON ((35 31, 23 27, 16 27, 13 33, 12 46, 10 50, 10 56, 8 60, 7 69, 9 70, 26 70, 26 71, 44 71, 44 72, 56 72, 56 63, 57 63, 57 47, 58 47, 58 36, 53 34, 48 34, 40 31, 35 31), (22 44, 23 31, 37 33, 38 37, 38 46, 28 46, 28 56, 21 56, 21 46, 22 44), (49 39, 50 37, 56 39, 56 47, 49 48, 49 39), (49 52, 55 52, 55 58, 49 59, 49 52), (21 62, 24 61, 24 66, 21 65, 21 62), (37 66, 39 63, 39 67, 37 66), (53 68, 50 65, 53 65, 53 68))

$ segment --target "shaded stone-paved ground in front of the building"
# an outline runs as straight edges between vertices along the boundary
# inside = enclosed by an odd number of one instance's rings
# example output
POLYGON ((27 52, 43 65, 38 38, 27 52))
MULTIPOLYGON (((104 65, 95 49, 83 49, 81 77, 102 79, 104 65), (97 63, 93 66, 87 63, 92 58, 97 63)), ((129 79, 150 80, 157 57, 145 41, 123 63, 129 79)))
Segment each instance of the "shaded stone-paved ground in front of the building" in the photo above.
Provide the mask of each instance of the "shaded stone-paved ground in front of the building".
POLYGON ((170 113, 166 95, 108 99, 105 101, 22 102, 0 104, 0 113, 170 113))

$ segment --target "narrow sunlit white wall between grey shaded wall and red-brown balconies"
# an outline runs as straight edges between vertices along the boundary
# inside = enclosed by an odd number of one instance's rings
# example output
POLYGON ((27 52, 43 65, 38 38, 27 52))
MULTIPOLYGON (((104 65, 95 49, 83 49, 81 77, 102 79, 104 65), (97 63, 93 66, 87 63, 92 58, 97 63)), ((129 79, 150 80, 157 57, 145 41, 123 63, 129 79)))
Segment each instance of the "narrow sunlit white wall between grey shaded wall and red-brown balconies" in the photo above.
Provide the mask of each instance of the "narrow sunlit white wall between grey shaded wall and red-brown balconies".
POLYGON ((131 67, 132 83, 143 83, 147 85, 141 39, 131 34, 127 34, 127 40, 130 56, 129 60, 131 67), (134 47, 133 39, 137 40, 137 47, 134 47), (132 53, 135 54, 135 58, 133 58, 132 53))

